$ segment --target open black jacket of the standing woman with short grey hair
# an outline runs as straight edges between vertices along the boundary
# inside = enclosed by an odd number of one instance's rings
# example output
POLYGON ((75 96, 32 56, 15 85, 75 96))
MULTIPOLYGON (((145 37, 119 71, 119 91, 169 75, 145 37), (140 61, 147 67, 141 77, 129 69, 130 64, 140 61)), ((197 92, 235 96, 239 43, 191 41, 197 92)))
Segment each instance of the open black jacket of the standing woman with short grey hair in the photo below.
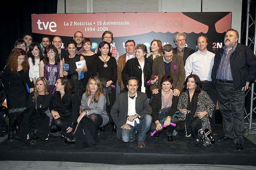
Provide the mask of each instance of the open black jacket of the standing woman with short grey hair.
MULTIPOLYGON (((129 77, 132 77, 132 76, 137 77, 139 79, 139 87, 137 90, 141 91, 141 86, 143 84, 144 87, 146 87, 145 92, 148 98, 151 98, 150 86, 148 86, 147 81, 151 79, 153 60, 147 57, 144 57, 144 59, 145 59, 145 64, 143 68, 144 82, 141 82, 142 69, 139 67, 140 63, 137 58, 130 59, 125 63, 124 69, 121 73, 122 81, 124 82, 124 84, 127 84, 127 80, 129 77)), ((124 86, 124 88, 128 90, 126 85, 124 86)))

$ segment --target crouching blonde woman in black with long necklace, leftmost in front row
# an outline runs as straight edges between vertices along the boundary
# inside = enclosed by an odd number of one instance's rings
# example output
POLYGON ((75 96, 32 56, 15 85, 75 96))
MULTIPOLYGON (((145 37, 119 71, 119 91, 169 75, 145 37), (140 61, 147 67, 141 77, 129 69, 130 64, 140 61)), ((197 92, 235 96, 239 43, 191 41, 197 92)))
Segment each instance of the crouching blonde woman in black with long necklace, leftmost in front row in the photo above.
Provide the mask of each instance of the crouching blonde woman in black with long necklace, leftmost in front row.
POLYGON ((38 137, 43 141, 48 139, 50 119, 45 112, 53 110, 53 95, 49 93, 47 80, 44 77, 39 77, 35 84, 35 90, 28 97, 27 109, 22 114, 20 127, 16 133, 16 138, 18 137, 26 144, 35 144, 38 137), (38 111, 34 112, 35 109, 38 111), (36 124, 37 122, 40 123, 36 124), (29 136, 27 136, 28 134, 29 136))

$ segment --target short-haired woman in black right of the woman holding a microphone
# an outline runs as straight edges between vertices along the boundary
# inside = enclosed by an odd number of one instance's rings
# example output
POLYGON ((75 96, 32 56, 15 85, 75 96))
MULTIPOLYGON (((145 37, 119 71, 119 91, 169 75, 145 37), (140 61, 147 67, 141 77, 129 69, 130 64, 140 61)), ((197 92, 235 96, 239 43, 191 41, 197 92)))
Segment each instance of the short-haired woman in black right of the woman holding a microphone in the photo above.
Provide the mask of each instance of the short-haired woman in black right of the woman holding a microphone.
POLYGON ((95 59, 95 57, 98 57, 98 55, 92 52, 92 41, 90 39, 83 39, 82 44, 85 52, 82 53, 81 56, 84 57, 88 69, 88 71, 84 73, 83 80, 84 84, 87 84, 89 78, 92 77, 92 62, 95 59))

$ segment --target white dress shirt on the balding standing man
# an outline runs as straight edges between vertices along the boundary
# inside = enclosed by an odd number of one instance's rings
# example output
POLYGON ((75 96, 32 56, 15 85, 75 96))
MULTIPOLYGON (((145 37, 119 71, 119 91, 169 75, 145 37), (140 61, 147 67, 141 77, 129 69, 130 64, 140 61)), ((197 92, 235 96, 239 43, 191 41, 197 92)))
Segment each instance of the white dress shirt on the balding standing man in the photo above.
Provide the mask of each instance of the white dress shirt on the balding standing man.
POLYGON ((191 54, 186 60, 185 64, 185 72, 186 78, 191 74, 196 74, 200 78, 201 81, 212 81, 212 67, 214 63, 215 54, 206 51, 203 54, 200 50, 191 54))

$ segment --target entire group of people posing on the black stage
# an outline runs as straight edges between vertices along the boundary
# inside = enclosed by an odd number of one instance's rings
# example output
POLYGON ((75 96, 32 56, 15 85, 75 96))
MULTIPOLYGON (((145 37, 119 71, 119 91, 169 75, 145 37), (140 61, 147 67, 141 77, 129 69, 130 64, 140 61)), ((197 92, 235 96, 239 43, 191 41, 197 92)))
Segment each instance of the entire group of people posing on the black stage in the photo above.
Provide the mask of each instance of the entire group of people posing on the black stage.
POLYGON ((50 135, 63 137, 66 143, 75 138, 76 147, 84 148, 98 142, 100 132, 111 124, 124 142, 134 141, 139 131, 140 148, 145 147, 147 132, 156 130, 159 137, 165 128, 170 143, 177 133, 200 142, 201 128, 217 135, 218 98, 225 135, 217 140, 234 140, 242 151, 244 91, 255 80, 256 57, 238 38, 236 30, 227 30, 225 46, 216 55, 207 50, 204 35, 196 39, 197 52, 185 47, 184 33, 173 37, 176 48, 154 39, 150 52, 144 44, 127 40, 126 53, 119 56, 111 46, 110 31, 102 34, 95 53, 82 32, 68 40, 66 50, 60 37, 50 44, 50 37, 43 36, 41 48, 25 34, 15 42, 3 74, 8 141, 14 140, 17 130, 16 138, 25 143, 35 144, 36 138, 44 141, 50 135), (83 60, 84 68, 77 68, 83 60), (81 72, 84 78, 79 80, 81 72))

